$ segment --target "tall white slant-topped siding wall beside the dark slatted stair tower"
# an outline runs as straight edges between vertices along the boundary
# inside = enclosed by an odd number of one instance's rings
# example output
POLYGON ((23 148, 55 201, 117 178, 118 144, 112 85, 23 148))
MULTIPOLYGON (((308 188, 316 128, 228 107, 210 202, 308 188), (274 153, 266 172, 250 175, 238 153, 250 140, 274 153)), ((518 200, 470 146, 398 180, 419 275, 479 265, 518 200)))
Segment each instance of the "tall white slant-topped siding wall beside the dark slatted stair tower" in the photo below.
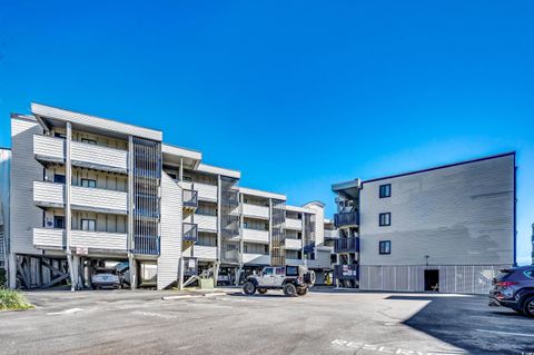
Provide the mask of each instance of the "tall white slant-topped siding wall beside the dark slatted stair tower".
POLYGON ((178 279, 181 255, 182 190, 165 171, 161 174, 161 239, 158 257, 158 289, 178 279))

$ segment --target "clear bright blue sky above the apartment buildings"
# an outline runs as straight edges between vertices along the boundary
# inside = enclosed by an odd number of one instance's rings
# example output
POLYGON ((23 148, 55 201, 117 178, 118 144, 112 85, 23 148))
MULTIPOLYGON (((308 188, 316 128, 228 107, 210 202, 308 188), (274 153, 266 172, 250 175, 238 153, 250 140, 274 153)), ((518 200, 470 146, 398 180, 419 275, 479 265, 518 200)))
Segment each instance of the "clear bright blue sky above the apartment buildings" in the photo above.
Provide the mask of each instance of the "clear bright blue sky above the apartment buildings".
POLYGON ((332 183, 516 150, 527 262, 533 18, 532 1, 2 1, 0 146, 10 112, 65 107, 328 214, 332 183))

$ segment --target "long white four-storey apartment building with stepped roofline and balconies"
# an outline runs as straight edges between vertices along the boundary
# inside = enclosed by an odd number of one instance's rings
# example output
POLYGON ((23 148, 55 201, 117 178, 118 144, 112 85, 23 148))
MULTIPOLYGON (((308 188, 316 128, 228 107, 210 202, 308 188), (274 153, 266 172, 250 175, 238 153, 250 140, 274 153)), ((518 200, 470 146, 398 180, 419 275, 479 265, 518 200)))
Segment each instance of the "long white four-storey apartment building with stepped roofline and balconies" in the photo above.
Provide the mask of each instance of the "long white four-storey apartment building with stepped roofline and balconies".
POLYGON ((208 268, 236 283, 265 265, 332 269, 323 204, 240 187, 159 130, 32 103, 11 117, 10 165, 11 287, 87 287, 110 260, 158 289, 208 268))

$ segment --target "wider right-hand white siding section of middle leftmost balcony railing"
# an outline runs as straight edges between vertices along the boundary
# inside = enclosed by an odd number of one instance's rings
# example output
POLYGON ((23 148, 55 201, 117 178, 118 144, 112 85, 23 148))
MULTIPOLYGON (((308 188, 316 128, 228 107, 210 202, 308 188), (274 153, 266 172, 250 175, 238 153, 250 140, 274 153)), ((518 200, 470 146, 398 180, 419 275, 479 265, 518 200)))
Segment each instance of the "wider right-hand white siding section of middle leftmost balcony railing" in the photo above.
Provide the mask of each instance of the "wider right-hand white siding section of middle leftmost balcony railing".
POLYGON ((81 186, 71 187, 72 208, 109 210, 116 214, 128 213, 128 194, 123 191, 107 190, 81 186))

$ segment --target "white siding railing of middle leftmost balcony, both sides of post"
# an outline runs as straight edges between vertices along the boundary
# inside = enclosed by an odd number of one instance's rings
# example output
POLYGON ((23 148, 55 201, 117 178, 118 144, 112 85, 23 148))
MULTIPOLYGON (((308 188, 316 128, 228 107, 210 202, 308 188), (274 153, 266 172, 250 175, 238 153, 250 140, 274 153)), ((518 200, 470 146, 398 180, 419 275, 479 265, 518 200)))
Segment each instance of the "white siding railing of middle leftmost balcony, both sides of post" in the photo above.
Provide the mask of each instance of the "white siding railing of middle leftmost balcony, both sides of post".
MULTIPOLYGON (((65 185, 33 181, 33 203, 39 207, 65 206, 65 185)), ((128 214, 128 194, 101 188, 71 186, 71 208, 102 214, 128 214)))

